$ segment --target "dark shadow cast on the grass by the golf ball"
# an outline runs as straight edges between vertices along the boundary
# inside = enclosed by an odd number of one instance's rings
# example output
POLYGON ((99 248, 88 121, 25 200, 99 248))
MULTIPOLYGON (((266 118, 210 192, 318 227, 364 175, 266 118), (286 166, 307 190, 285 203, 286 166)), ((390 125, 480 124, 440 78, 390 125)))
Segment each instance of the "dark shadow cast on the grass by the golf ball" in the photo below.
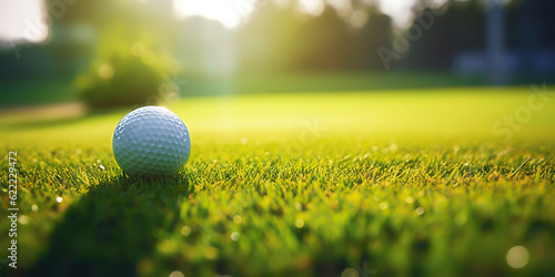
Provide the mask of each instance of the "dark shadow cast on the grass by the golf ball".
POLYGON ((120 178, 91 188, 53 228, 27 276, 137 276, 157 234, 172 232, 193 192, 185 178, 120 178))

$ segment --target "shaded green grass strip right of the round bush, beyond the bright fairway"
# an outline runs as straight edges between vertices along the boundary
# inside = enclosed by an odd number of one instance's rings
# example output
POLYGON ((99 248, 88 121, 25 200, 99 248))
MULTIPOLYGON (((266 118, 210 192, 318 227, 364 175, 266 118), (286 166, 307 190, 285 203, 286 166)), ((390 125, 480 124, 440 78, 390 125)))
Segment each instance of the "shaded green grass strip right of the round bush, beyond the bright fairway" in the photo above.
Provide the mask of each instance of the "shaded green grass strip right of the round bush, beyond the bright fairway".
MULTIPOLYGON (((365 90, 406 90, 415 88, 448 88, 487 85, 484 75, 457 75, 440 72, 294 72, 241 73, 230 78, 175 75, 181 95, 226 95, 261 92, 337 92, 365 90)), ((523 78, 526 79, 527 78, 523 78)), ((528 84, 515 80, 518 84, 528 84)))

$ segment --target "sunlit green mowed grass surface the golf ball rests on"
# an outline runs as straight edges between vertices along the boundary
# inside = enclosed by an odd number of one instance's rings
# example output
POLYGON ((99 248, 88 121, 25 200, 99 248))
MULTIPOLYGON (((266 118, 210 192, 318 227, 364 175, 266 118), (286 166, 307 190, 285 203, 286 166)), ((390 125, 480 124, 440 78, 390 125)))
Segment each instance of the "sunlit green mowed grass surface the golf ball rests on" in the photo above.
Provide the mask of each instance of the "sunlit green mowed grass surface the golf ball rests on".
MULTIPOLYGON (((533 93, 183 99, 168 107, 188 125, 192 154, 169 179, 118 167, 112 132, 130 109, 56 121, 4 114, 1 153, 18 152, 14 271, 553 276, 555 93, 524 114, 533 93), (492 131, 515 111, 512 137, 492 131)), ((6 186, 1 196, 4 258, 6 186)))

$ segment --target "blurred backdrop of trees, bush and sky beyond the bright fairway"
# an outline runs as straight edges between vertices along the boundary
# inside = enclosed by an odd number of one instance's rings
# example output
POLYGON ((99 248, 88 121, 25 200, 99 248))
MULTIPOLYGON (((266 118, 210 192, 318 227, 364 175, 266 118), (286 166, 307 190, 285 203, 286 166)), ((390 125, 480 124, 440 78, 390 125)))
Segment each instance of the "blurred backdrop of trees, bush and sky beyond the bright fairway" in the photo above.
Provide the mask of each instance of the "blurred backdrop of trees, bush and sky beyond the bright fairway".
POLYGON ((3 0, 0 107, 555 81, 544 0, 3 0))

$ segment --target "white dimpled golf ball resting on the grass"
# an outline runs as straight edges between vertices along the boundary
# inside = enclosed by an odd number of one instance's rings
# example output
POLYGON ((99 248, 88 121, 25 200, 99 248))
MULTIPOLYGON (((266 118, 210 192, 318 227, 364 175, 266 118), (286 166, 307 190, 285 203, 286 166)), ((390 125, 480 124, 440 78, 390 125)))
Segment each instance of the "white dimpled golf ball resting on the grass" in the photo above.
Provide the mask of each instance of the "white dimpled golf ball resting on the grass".
POLYGON ((189 130, 181 119, 161 106, 128 113, 113 133, 113 155, 129 176, 176 174, 191 153, 189 130))

